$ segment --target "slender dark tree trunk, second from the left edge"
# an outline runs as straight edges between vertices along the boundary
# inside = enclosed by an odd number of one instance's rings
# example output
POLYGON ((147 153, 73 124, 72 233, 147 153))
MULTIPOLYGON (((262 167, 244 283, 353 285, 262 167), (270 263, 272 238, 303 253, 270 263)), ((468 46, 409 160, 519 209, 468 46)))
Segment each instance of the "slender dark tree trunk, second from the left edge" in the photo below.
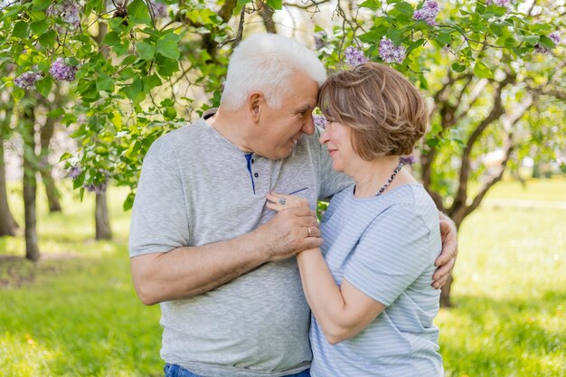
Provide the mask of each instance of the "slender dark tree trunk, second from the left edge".
POLYGON ((37 193, 37 156, 35 155, 35 115, 33 106, 24 106, 21 129, 24 140, 24 213, 25 213, 25 258, 36 261, 40 258, 37 244, 35 197, 37 193))

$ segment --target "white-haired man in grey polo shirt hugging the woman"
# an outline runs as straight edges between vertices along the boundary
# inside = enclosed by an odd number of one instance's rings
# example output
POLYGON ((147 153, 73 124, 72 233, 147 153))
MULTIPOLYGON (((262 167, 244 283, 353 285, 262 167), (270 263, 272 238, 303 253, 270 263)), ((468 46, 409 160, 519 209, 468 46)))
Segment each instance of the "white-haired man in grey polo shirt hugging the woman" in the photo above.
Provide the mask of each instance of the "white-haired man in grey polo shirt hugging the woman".
POLYGON ((309 309, 291 257, 323 240, 315 212, 273 212, 265 195, 296 193, 315 209, 351 184, 317 140, 324 80, 313 52, 253 35, 231 57, 220 108, 147 153, 129 247, 138 296, 161 303, 166 376, 308 376, 309 309))

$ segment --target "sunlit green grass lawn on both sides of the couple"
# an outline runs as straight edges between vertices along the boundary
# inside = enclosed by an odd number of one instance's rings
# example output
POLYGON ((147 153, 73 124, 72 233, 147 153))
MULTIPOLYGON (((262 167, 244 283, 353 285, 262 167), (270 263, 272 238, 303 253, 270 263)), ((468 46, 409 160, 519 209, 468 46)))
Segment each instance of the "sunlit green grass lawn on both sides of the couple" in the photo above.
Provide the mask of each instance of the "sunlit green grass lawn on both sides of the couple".
MULTIPOLYGON (((63 214, 38 209, 38 264, 17 258, 22 237, 0 239, 0 375, 163 375, 159 308, 139 303, 130 280, 126 193, 108 196, 111 242, 92 240, 93 198, 64 195, 63 214)), ((505 182, 488 199, 566 203, 566 180, 505 182)), ((10 204, 23 223, 17 189, 10 204)), ((565 217, 560 208, 485 206, 467 218, 455 307, 437 320, 447 376, 566 376, 565 217)))

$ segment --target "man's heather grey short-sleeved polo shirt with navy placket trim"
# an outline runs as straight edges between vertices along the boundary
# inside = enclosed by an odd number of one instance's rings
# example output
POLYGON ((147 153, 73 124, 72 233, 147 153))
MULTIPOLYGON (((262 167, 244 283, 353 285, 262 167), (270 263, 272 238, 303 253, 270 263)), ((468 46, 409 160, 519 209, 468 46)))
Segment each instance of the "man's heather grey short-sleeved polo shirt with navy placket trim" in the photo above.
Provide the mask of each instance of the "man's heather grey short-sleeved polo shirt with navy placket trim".
MULTIPOLYGON (((234 127, 237 127, 235 125, 234 127)), ((318 132, 290 156, 245 154, 204 119, 160 137, 146 155, 130 257, 228 240, 269 221, 269 191, 316 201, 351 181, 332 171, 318 132), (249 168, 249 167, 250 168, 249 168)), ((161 356, 205 376, 281 376, 308 367, 309 310, 296 259, 266 263, 200 296, 161 304, 161 356)))

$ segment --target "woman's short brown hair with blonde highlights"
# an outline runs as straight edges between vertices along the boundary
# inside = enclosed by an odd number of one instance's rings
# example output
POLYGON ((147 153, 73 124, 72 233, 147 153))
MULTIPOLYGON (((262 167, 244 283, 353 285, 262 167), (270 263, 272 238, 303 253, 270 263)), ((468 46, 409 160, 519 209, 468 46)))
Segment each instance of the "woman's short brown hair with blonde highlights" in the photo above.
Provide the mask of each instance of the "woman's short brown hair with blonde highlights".
POLYGON ((328 77, 318 106, 328 121, 352 128, 354 152, 368 161, 410 155, 429 121, 419 90, 400 72, 375 62, 328 77))

